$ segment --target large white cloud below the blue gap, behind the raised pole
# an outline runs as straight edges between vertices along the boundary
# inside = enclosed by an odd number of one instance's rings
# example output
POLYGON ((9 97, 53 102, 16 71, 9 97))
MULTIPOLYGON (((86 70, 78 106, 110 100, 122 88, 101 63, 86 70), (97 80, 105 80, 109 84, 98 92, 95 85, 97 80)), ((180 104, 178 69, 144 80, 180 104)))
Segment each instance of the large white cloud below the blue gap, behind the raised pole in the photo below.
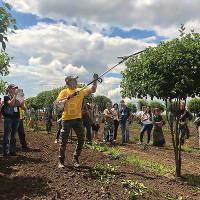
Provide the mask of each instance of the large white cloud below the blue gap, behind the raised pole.
MULTIPOLYGON (((38 23, 9 35, 7 49, 14 60, 6 80, 24 88, 27 96, 64 85, 66 75, 77 74, 79 81, 86 83, 94 72, 102 74, 119 62, 117 56, 129 55, 149 45, 155 44, 89 34, 63 23, 38 23)), ((123 67, 120 65, 111 72, 120 73, 123 67)), ((115 98, 110 90, 119 88, 120 81, 120 78, 105 78, 102 94, 115 98)))

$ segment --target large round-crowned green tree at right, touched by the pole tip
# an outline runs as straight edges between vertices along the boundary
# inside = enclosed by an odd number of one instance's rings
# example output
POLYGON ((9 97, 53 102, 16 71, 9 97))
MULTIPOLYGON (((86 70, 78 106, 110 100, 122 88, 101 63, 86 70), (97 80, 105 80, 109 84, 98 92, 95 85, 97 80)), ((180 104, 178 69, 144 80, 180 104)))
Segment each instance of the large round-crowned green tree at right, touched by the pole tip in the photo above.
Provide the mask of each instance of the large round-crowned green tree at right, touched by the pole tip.
MULTIPOLYGON (((200 34, 191 30, 180 37, 149 47, 130 58, 121 83, 123 97, 157 97, 166 104, 200 95, 200 34)), ((167 107, 167 105, 166 105, 167 107)), ((176 110, 178 107, 176 108, 176 110)), ((168 115, 167 115, 168 116, 168 115)), ((168 123, 174 147, 176 176, 181 175, 181 142, 178 115, 170 115, 168 123)))

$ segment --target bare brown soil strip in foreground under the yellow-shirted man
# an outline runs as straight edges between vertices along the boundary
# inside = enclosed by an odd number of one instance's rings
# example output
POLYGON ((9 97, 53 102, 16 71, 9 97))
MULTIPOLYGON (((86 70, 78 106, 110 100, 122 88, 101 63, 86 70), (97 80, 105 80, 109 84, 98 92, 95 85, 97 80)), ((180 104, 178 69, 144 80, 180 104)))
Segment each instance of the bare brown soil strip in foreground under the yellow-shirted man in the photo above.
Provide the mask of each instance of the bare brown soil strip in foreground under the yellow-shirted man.
POLYGON ((166 199, 164 196, 168 193, 172 197, 181 195, 184 199, 200 198, 197 187, 186 182, 158 176, 119 160, 110 160, 103 153, 90 149, 83 150, 80 157, 82 167, 76 169, 71 161, 75 144, 68 145, 66 168, 58 169, 58 145, 54 144, 54 139, 47 134, 27 133, 30 151, 22 152, 17 141, 17 157, 0 157, 1 200, 125 200, 128 193, 121 183, 123 180, 138 181, 148 188, 137 199, 166 199), (104 173, 106 166, 117 169, 104 173))

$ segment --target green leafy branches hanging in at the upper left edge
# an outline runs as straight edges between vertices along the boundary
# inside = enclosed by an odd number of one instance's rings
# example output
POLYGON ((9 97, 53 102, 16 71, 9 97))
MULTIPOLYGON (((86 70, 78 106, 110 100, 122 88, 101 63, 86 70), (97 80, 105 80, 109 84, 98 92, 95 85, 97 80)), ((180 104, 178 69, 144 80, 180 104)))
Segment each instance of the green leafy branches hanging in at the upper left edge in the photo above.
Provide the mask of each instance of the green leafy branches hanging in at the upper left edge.
MULTIPOLYGON (((7 76, 9 73, 11 58, 6 53, 6 43, 8 42, 7 34, 17 29, 16 20, 10 14, 10 5, 8 3, 1 2, 0 4, 0 74, 1 76, 7 76)), ((0 93, 5 91, 6 82, 0 80, 0 93)))

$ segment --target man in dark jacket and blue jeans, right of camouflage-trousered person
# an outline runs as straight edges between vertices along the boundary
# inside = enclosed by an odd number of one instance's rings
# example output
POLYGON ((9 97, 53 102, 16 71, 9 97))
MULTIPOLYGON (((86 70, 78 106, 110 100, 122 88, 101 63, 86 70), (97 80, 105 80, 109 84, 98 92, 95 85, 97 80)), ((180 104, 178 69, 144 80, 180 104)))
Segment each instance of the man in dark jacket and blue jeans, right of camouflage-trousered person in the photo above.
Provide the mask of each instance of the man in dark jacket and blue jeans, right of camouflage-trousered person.
POLYGON ((131 109, 126 106, 124 100, 120 101, 119 122, 122 131, 122 144, 129 142, 129 120, 132 116, 131 109))

